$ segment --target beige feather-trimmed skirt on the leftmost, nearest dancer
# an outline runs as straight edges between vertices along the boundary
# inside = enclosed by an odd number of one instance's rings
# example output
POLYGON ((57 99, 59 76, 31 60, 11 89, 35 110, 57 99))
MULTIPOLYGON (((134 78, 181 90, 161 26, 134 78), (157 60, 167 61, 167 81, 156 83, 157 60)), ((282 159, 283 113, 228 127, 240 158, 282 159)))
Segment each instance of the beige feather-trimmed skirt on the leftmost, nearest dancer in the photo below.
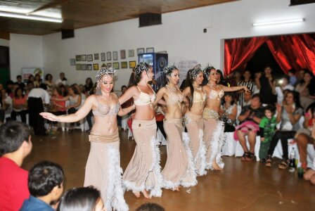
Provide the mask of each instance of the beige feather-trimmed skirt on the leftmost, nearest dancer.
POLYGON ((111 136, 89 135, 91 149, 86 162, 84 186, 101 191, 106 210, 129 210, 122 189, 120 138, 118 129, 111 136))

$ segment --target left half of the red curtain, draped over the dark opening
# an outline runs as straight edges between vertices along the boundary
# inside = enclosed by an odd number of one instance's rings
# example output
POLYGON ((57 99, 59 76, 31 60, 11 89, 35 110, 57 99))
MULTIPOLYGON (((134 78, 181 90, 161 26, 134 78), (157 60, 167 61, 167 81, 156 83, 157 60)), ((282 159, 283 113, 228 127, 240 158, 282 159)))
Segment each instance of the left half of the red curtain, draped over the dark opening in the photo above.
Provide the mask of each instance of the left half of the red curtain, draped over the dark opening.
POLYGON ((248 61, 267 37, 228 39, 224 41, 224 73, 230 75, 234 70, 244 70, 248 61))

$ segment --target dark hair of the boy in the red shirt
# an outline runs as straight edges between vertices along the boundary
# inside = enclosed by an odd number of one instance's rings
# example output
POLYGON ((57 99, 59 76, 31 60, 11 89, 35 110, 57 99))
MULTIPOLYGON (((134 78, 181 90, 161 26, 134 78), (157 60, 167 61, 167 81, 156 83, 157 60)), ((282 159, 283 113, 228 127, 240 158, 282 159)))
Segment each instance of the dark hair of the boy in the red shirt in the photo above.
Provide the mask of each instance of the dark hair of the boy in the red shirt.
POLYGON ((0 127, 0 156, 13 153, 20 148, 23 141, 28 141, 32 129, 23 122, 8 121, 0 127))

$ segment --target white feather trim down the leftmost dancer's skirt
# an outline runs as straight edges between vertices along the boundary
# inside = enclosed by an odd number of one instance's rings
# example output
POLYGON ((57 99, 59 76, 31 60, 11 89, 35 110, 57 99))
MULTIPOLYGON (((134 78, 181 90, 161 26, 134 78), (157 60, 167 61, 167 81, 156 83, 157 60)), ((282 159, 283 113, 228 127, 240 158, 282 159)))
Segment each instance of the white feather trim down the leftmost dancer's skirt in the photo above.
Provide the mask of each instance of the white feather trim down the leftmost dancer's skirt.
POLYGON ((120 153, 115 148, 108 150, 108 188, 106 193, 106 210, 127 211, 129 207, 124 200, 122 190, 122 168, 120 167, 120 153))

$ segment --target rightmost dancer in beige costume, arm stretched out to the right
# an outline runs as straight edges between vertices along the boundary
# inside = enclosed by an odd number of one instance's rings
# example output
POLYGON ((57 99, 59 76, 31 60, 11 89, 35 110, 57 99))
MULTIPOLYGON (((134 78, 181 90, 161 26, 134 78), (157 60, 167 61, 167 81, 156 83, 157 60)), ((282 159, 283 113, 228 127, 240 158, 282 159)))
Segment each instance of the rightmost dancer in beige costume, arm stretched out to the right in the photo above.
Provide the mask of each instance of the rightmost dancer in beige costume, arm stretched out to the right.
POLYGON ((221 98, 224 96, 224 91, 249 90, 248 87, 218 85, 217 70, 213 67, 207 67, 203 72, 208 79, 208 83, 203 87, 207 92, 207 103, 203 111, 203 118, 205 119, 203 140, 207 148, 207 170, 222 170, 224 167, 224 162, 221 159, 221 149, 224 144, 224 122, 219 120, 221 98))

